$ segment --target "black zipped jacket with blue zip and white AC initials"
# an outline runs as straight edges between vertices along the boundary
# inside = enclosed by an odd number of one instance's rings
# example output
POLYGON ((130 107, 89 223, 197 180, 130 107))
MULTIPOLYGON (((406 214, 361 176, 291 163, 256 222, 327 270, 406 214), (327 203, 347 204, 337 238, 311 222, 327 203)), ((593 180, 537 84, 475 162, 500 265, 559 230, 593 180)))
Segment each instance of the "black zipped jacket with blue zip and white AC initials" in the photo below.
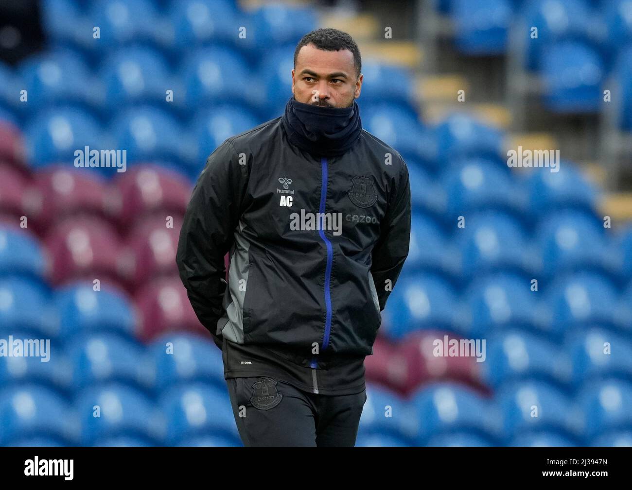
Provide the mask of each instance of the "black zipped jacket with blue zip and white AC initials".
POLYGON ((406 164, 364 129, 339 157, 289 143, 282 117, 224 141, 193 189, 176 261, 226 378, 260 376, 256 359, 315 392, 317 374, 323 393, 341 376, 363 384, 410 222, 406 164))

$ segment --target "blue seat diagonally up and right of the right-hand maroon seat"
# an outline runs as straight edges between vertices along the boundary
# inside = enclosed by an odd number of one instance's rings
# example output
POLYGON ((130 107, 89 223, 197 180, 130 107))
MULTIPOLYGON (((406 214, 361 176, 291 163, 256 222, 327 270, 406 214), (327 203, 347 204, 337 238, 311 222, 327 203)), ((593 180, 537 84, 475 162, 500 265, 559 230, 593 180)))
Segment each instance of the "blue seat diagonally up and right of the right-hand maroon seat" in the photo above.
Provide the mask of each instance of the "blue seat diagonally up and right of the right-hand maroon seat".
POLYGON ((470 318, 468 336, 485 337, 506 328, 538 330, 537 292, 524 276, 500 272, 475 278, 463 299, 470 318))

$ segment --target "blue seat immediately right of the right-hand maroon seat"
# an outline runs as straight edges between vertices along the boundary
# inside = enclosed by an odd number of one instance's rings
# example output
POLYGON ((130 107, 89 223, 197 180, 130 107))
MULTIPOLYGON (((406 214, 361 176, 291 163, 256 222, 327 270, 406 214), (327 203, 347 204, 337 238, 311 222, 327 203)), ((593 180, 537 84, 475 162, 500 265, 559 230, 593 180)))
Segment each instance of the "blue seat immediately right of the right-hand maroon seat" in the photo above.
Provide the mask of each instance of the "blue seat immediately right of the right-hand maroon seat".
POLYGON ((493 335, 487 342, 485 382, 494 390, 527 379, 540 379, 566 392, 571 362, 566 352, 542 337, 521 330, 493 335))

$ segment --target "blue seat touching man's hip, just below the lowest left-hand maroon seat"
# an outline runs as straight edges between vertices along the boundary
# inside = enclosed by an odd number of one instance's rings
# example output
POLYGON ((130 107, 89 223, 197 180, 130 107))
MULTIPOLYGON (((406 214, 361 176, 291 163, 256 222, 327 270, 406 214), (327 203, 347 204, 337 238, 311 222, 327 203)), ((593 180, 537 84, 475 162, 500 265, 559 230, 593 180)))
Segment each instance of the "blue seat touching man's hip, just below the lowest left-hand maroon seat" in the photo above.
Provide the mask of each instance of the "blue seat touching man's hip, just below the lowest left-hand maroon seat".
POLYGON ((226 388, 222 352, 210 340, 191 333, 171 332, 155 339, 149 349, 158 392, 193 381, 226 388))

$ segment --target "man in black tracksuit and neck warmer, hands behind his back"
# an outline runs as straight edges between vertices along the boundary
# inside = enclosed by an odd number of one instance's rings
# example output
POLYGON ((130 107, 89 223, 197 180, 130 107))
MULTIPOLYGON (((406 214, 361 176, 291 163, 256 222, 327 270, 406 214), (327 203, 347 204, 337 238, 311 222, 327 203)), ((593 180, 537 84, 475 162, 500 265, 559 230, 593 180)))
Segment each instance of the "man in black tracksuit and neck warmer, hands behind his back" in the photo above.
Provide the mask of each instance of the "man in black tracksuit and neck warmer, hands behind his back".
POLYGON ((408 169, 362 129, 348 34, 308 33, 294 66, 283 116, 208 158, 176 261, 244 445, 354 446, 364 358, 408 255, 408 169))

